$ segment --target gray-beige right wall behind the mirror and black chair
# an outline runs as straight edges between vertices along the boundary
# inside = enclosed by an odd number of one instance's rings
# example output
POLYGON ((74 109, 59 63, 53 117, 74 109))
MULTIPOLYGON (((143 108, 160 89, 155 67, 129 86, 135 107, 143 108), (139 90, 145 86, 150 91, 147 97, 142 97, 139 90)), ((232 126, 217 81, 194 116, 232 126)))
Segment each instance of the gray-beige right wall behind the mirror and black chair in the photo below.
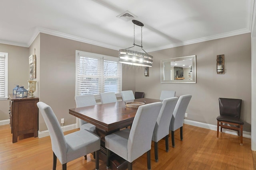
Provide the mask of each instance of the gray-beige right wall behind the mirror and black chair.
MULTIPOLYGON (((242 99, 244 131, 251 131, 251 37, 250 33, 151 52, 150 76, 136 74, 136 91, 147 98, 160 98, 161 90, 175 90, 176 96, 192 94, 188 118, 216 125, 218 98, 242 99), (225 55, 225 74, 216 73, 216 55, 225 55), (196 84, 160 83, 160 61, 196 55, 196 84)), ((140 72, 143 68, 140 68, 140 72)))

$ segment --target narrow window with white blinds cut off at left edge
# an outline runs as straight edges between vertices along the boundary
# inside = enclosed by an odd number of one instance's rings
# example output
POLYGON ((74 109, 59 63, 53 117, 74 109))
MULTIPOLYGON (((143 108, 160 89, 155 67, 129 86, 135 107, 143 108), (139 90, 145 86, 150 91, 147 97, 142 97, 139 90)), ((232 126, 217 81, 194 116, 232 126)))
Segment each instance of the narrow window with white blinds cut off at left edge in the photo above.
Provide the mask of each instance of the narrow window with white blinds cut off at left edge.
POLYGON ((8 53, 0 52, 0 100, 8 99, 8 53))

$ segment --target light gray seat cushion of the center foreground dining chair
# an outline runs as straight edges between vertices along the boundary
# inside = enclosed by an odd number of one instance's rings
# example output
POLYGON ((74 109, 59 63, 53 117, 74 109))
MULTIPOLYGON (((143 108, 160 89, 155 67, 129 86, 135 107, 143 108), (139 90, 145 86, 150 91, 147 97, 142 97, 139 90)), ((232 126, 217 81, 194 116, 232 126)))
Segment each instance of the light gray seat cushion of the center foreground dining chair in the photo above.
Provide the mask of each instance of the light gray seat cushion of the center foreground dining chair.
POLYGON ((105 147, 127 160, 129 135, 130 129, 123 129, 121 131, 111 133, 110 135, 105 136, 105 147))

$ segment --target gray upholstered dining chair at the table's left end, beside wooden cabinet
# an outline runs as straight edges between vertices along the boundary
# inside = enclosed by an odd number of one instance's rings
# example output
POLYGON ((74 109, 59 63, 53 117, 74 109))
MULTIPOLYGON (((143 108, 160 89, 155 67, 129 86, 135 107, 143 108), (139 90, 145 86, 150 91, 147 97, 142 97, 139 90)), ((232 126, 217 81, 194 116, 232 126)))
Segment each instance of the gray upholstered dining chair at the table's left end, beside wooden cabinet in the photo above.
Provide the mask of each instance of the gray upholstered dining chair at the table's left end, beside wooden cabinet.
POLYGON ((52 108, 43 102, 37 103, 50 133, 53 151, 53 170, 56 170, 57 158, 66 170, 67 162, 96 152, 96 169, 99 169, 100 137, 90 131, 80 130, 64 135, 52 108))

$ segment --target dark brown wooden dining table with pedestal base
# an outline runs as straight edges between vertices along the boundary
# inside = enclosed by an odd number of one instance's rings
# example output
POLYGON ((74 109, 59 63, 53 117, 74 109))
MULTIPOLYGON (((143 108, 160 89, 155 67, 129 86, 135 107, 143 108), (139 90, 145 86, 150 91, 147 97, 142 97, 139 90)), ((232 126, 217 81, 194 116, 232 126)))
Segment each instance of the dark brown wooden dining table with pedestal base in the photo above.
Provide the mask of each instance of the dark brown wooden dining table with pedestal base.
MULTIPOLYGON (((102 160, 106 161, 105 136, 132 125, 138 107, 127 107, 128 102, 150 104, 162 102, 162 100, 140 98, 69 109, 69 114, 96 126, 96 133, 100 137, 100 158, 102 160)), ((126 169, 127 162, 119 156, 112 155, 110 159, 110 167, 112 170, 126 169)))

